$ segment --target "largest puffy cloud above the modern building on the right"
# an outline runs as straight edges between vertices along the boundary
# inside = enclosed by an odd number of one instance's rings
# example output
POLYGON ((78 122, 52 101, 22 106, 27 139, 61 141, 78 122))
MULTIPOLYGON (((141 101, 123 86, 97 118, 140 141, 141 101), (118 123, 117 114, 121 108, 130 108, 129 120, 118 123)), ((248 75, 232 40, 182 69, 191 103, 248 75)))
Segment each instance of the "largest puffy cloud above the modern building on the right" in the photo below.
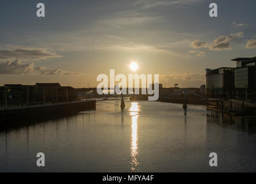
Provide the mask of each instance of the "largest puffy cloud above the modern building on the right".
POLYGON ((236 38, 243 37, 243 32, 230 34, 229 36, 220 36, 217 39, 213 40, 212 43, 205 43, 204 41, 193 41, 190 46, 192 48, 208 48, 210 50, 230 50, 232 41, 236 38))

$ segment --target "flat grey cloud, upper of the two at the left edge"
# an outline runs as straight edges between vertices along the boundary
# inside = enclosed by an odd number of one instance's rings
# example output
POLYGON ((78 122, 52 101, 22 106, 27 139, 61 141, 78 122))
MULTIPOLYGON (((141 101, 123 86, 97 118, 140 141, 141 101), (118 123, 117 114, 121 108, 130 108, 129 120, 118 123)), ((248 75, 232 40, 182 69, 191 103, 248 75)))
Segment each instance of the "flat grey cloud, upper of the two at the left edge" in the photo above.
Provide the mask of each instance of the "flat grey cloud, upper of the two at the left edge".
POLYGON ((0 50, 0 59, 12 60, 20 58, 25 61, 44 60, 48 58, 62 57, 54 52, 49 52, 45 48, 11 46, 11 49, 0 50))

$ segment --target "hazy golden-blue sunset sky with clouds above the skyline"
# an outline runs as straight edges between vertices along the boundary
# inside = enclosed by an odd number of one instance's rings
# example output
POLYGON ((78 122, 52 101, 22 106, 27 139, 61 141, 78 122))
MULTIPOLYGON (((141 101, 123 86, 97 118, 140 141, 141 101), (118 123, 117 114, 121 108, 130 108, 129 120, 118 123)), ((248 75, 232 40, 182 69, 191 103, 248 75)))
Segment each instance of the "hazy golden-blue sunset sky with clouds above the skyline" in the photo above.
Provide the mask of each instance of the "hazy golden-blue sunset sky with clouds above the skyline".
MULTIPOLYGON (((256 56, 254 0, 0 2, 0 85, 97 87, 99 74, 159 74, 164 87, 199 87, 205 68, 256 56), (45 17, 36 16, 44 3, 45 17), (218 17, 209 17, 209 4, 218 17)), ((128 78, 128 77, 127 77, 128 78)))

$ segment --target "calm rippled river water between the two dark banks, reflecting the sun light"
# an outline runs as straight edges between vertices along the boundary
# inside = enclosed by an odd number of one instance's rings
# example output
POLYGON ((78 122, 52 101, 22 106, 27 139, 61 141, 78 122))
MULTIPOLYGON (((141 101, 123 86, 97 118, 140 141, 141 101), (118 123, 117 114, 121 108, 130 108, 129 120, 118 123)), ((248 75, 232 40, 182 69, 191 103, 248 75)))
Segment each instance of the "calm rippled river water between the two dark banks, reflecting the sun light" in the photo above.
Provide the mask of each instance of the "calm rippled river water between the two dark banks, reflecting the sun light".
POLYGON ((0 132, 1 172, 256 171, 256 121, 206 106, 97 102, 97 110, 0 132), (45 154, 45 167, 36 155, 45 154), (209 154, 217 154, 217 167, 209 154))

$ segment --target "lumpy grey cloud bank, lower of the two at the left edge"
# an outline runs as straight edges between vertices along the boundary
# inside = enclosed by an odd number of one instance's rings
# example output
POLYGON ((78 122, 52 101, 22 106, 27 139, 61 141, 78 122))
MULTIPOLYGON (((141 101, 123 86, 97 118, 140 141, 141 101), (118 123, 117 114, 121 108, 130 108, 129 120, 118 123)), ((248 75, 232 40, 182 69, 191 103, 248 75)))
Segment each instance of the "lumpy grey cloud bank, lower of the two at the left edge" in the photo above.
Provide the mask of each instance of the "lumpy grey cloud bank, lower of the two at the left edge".
POLYGON ((16 59, 13 62, 0 62, 0 75, 3 74, 69 75, 78 73, 60 69, 48 69, 47 67, 35 68, 34 63, 22 63, 16 59))

